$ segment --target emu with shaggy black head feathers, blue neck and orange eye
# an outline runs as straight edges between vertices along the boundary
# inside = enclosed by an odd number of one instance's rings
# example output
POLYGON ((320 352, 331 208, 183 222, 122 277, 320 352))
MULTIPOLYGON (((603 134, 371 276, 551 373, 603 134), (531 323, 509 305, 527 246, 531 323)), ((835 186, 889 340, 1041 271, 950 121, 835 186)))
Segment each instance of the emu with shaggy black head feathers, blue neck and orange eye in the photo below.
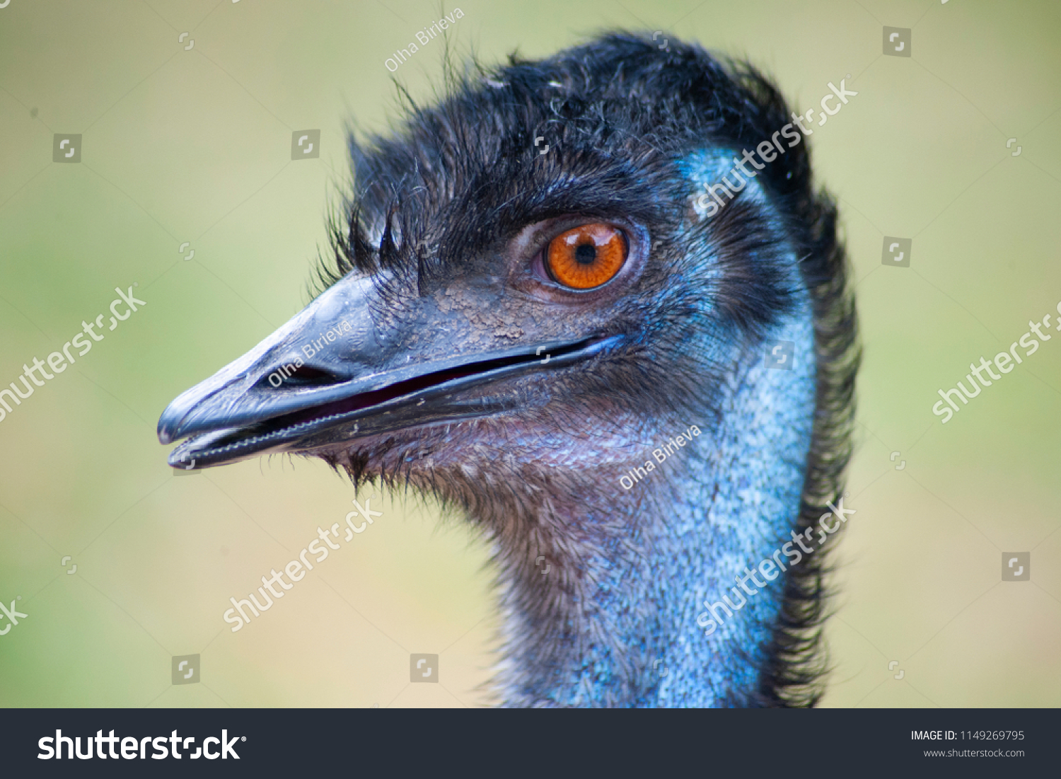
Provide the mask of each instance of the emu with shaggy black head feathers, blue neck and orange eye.
POLYGON ((170 464, 312 455, 465 515, 506 706, 814 705, 824 552, 703 629, 850 455, 854 302, 806 142, 705 208, 788 106, 640 33, 447 74, 393 136, 351 134, 318 294, 170 404, 170 464))

